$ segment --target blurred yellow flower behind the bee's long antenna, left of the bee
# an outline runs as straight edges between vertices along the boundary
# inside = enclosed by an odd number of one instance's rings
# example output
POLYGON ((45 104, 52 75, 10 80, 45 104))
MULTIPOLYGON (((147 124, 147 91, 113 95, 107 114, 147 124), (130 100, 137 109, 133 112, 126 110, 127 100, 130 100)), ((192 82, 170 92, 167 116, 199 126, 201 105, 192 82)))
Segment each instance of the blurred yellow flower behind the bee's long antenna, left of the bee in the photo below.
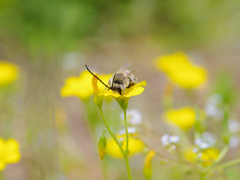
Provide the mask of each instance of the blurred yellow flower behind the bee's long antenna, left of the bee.
MULTIPOLYGON (((108 80, 112 75, 99 75, 98 77, 107 84, 108 80)), ((87 71, 83 71, 79 77, 69 77, 66 79, 65 85, 61 89, 61 96, 77 96, 81 99, 87 99, 93 95, 94 91, 92 88, 92 75, 87 71)), ((100 83, 99 90, 103 90, 105 86, 100 83)))

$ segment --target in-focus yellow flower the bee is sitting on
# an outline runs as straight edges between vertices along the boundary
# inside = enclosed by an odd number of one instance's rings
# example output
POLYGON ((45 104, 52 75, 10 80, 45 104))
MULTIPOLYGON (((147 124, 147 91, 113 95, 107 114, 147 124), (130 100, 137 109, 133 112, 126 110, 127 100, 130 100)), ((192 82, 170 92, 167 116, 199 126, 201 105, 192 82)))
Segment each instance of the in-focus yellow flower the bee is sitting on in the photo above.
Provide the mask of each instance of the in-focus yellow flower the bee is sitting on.
POLYGON ((114 97, 122 109, 127 109, 129 98, 132 96, 137 96, 137 95, 142 94, 142 92, 145 89, 145 87, 143 87, 143 86, 146 86, 146 85, 147 85, 146 81, 142 81, 130 88, 126 88, 125 94, 123 94, 123 95, 120 95, 117 92, 114 92, 112 90, 102 91, 101 95, 103 95, 104 97, 109 97, 109 96, 114 97))

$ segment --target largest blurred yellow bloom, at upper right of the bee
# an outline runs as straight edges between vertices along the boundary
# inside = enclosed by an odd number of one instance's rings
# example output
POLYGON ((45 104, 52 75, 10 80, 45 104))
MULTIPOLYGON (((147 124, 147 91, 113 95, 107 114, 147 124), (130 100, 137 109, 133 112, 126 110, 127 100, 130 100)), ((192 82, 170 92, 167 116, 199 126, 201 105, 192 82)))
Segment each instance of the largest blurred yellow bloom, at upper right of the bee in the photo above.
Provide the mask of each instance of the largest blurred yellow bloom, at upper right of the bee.
POLYGON ((157 58, 156 67, 182 88, 198 88, 207 80, 207 70, 192 64, 183 52, 157 58))

